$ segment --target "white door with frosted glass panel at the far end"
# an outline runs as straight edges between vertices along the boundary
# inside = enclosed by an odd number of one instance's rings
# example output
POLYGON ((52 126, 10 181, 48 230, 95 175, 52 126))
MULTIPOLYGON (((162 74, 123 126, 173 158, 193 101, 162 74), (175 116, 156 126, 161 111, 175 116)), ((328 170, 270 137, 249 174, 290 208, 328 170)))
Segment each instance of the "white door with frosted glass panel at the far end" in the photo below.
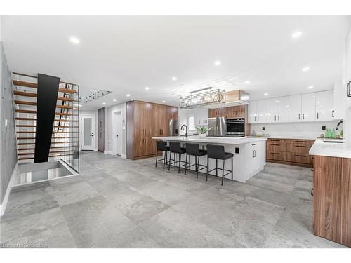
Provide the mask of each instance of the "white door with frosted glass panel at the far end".
POLYGON ((81 115, 80 119, 81 150, 95 149, 95 115, 81 115))

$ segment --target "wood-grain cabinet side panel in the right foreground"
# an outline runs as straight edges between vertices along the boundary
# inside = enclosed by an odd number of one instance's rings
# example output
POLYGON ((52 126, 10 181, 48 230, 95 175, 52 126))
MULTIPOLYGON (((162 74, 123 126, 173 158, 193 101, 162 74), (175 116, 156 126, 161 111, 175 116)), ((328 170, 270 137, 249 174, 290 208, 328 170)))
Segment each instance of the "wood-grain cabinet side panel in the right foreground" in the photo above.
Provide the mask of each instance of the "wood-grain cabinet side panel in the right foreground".
POLYGON ((351 159, 314 156, 314 234, 351 247, 351 159))

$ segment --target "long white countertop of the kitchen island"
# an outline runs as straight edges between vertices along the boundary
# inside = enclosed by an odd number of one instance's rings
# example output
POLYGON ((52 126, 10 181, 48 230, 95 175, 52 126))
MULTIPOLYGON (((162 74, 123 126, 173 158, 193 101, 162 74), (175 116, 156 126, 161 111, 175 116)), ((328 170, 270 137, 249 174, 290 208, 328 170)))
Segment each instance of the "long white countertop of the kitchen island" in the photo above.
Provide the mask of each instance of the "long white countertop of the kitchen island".
POLYGON ((152 139, 175 141, 175 142, 200 142, 200 143, 216 143, 216 144, 246 144, 251 142, 267 140, 266 137, 199 137, 199 136, 152 137, 152 139))

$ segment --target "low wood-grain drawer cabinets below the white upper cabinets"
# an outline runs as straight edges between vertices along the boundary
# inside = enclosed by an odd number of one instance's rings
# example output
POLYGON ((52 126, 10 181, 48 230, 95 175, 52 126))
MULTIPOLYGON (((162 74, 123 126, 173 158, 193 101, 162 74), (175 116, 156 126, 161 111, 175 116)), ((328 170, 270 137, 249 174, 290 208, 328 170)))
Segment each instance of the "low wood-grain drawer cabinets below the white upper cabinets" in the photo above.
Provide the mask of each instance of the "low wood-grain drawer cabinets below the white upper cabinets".
POLYGON ((313 143, 314 140, 269 138, 266 142, 267 161, 310 167, 312 156, 308 152, 313 143))

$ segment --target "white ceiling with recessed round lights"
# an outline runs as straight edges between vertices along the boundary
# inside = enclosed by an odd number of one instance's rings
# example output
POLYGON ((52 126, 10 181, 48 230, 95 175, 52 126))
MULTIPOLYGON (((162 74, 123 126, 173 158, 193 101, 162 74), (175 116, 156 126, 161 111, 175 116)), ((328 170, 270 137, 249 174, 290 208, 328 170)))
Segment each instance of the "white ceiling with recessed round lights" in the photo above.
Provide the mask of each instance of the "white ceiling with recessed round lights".
POLYGON ((2 40, 15 72, 112 91, 82 109, 131 98, 177 105, 180 96, 209 85, 243 89, 251 99, 331 89, 341 77, 350 22, 350 16, 5 16, 2 40), (296 31, 303 34, 292 39, 296 31))

